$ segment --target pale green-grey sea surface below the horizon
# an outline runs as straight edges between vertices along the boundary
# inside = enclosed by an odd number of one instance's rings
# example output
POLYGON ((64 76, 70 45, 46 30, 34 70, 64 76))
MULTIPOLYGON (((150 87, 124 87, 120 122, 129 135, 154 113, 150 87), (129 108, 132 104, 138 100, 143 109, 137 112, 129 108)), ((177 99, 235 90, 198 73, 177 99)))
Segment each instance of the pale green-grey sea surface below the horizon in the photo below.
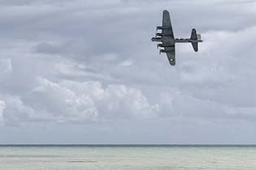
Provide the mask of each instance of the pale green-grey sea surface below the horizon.
POLYGON ((256 170, 254 146, 1 146, 0 170, 256 170))

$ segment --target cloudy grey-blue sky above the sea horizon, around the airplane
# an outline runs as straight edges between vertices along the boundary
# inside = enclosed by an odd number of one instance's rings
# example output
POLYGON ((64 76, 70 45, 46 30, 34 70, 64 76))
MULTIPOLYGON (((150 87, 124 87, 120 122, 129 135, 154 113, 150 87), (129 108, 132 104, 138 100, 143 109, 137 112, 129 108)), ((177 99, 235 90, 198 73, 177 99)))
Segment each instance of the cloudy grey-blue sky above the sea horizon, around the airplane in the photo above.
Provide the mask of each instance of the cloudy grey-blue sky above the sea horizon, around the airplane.
POLYGON ((256 2, 0 0, 0 144, 255 144, 256 2), (163 10, 194 53, 151 42, 163 10))

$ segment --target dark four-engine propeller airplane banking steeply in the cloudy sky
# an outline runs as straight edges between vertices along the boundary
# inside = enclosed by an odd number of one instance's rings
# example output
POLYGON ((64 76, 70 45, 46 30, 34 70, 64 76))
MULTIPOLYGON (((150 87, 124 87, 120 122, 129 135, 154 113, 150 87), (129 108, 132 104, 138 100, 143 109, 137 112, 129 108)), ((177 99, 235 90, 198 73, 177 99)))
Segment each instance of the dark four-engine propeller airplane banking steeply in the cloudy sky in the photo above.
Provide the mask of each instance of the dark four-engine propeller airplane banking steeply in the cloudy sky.
POLYGON ((167 10, 163 11, 163 25, 156 28, 156 35, 151 39, 152 41, 162 42, 158 44, 158 47, 162 47, 159 53, 167 53, 167 58, 171 66, 176 65, 175 57, 175 44, 176 43, 191 43, 195 52, 198 51, 198 42, 202 42, 201 35, 197 34, 195 28, 192 29, 190 38, 175 38, 172 27, 170 14, 167 10), (162 30, 161 33, 158 33, 158 30, 162 30))

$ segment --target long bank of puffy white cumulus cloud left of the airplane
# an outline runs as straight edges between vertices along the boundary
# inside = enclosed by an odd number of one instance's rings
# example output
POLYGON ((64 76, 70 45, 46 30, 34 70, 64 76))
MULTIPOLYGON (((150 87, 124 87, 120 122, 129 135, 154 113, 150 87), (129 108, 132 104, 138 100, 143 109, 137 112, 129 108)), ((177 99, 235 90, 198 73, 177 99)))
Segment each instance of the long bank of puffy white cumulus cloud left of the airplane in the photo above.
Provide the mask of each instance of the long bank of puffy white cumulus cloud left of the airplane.
POLYGON ((124 85, 102 87, 99 82, 53 83, 38 79, 23 100, 8 96, 3 119, 7 125, 24 122, 80 122, 114 121, 152 118, 157 105, 150 105, 137 89, 124 85), (40 99, 40 100, 38 100, 40 99))

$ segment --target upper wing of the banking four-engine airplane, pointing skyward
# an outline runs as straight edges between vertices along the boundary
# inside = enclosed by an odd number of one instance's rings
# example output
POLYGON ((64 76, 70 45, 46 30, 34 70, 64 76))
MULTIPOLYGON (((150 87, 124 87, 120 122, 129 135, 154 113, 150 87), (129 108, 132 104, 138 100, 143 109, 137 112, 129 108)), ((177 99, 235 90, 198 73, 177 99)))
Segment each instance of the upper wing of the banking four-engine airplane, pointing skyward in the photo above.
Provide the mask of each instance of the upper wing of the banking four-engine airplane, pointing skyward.
POLYGON ((163 36, 170 36, 171 39, 174 39, 174 34, 171 27, 171 18, 168 11, 163 11, 163 36))

